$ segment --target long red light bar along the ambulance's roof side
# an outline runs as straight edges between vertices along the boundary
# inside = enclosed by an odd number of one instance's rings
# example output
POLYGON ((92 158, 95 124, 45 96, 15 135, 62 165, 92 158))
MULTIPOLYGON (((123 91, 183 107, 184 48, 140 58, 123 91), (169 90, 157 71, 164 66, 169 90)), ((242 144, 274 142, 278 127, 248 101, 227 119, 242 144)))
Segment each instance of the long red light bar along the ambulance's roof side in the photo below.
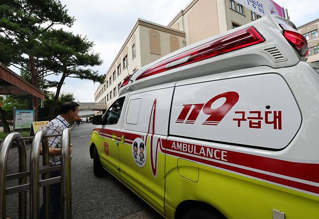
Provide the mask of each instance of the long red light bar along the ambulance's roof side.
POLYGON ((136 80, 159 74, 163 71, 185 66, 194 62, 202 61, 227 52, 236 51, 258 43, 265 39, 255 27, 247 27, 235 33, 212 40, 188 51, 184 51, 171 58, 163 60, 156 65, 146 69, 136 80))

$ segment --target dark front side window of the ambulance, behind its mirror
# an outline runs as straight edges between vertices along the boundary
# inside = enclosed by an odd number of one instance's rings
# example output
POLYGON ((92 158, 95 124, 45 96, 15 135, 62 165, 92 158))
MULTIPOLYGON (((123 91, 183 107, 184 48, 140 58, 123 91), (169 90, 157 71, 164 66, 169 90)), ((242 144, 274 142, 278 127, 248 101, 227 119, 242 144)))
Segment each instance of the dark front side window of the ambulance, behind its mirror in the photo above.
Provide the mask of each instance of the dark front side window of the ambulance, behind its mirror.
POLYGON ((115 125, 118 122, 121 116, 124 100, 125 97, 122 97, 113 102, 102 118, 103 125, 115 125))

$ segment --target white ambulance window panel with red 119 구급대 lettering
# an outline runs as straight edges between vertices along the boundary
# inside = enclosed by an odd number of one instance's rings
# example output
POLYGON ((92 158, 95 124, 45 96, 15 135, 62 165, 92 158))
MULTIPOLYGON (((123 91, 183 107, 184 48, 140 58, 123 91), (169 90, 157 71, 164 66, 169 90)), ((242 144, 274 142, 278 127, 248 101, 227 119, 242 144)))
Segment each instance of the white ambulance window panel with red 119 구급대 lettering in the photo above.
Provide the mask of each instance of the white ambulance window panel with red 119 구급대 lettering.
POLYGON ((286 147, 301 124, 278 74, 176 86, 171 118, 170 135, 273 150, 286 147))

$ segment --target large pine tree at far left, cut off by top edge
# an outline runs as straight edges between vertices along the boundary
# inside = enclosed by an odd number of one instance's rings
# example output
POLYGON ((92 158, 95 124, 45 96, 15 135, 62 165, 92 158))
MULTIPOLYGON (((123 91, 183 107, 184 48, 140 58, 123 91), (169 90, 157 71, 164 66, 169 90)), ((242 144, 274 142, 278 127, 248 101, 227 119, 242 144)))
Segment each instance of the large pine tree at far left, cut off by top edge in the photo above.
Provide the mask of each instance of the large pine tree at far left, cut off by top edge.
MULTIPOLYGON (((56 24, 71 27, 74 20, 59 0, 1 0, 1 62, 26 70, 38 87, 38 78, 46 71, 41 66, 39 37, 56 24)), ((33 105, 38 105, 36 97, 33 105)))

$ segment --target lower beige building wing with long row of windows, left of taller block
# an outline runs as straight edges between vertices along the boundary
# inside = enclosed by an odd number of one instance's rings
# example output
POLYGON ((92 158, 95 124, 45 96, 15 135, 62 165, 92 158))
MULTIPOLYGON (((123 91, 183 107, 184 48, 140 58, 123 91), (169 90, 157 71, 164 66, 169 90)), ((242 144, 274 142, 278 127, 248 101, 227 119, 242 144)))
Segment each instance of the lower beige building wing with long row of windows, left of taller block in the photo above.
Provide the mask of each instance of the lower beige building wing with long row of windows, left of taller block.
POLYGON ((185 33, 138 19, 94 94, 108 106, 116 100, 123 80, 136 69, 185 46, 185 33))

